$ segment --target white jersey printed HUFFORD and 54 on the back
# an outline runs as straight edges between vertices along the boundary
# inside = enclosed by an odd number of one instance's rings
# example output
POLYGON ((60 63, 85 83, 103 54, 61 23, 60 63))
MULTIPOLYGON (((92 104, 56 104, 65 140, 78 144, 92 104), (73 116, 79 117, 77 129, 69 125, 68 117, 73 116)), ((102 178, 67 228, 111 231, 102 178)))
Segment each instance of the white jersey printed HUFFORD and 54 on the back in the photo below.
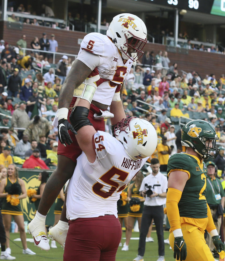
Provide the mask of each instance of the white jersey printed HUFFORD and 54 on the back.
POLYGON ((126 184, 142 168, 147 158, 130 159, 123 145, 109 133, 93 136, 96 160, 90 163, 84 152, 77 158, 68 185, 66 217, 99 217, 117 215, 117 201, 126 184))

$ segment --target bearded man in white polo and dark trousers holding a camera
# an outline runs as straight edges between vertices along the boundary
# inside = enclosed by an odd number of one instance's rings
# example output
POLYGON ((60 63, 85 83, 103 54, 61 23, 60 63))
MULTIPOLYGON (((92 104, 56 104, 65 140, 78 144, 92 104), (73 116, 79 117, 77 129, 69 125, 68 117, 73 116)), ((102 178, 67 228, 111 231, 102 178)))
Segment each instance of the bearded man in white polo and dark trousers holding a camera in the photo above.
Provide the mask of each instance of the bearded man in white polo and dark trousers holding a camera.
POLYGON ((163 235, 163 205, 166 204, 167 178, 160 171, 160 163, 157 158, 151 159, 152 173, 145 177, 139 189, 140 195, 145 197, 144 208, 141 219, 139 236, 138 256, 133 261, 143 260, 145 252, 145 239, 151 221, 154 219, 157 237, 159 258, 157 261, 164 261, 164 235, 163 235))

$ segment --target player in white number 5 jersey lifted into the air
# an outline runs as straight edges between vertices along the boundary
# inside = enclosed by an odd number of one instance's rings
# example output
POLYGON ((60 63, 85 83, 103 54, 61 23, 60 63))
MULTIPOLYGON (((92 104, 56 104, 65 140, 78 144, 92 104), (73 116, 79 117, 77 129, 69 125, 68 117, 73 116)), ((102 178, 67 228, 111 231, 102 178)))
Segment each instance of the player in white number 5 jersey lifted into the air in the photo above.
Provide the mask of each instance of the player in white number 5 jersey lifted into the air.
POLYGON ((121 85, 132 64, 136 64, 143 54, 146 43, 146 26, 132 14, 115 16, 106 35, 89 33, 84 37, 59 95, 59 110, 54 120, 60 141, 58 165, 46 183, 37 214, 28 226, 32 236, 40 241, 40 248, 50 248, 45 234, 45 218, 63 185, 71 178, 76 159, 82 152, 69 120, 76 99, 81 97, 89 101, 88 119, 95 130, 104 131, 104 118, 111 118, 112 125, 125 118, 121 85), (106 111, 108 106, 110 112, 106 111))

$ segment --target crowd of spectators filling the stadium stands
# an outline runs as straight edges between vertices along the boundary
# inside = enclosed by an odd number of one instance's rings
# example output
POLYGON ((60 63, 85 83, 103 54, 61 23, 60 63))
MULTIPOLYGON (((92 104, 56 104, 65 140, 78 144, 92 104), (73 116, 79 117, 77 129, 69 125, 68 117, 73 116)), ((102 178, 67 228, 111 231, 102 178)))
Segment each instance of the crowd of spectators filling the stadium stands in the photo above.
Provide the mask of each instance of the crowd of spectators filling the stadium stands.
MULTIPOLYGON (((52 57, 41 54, 41 50, 56 50, 54 35, 49 41, 45 33, 40 39, 35 37, 31 43, 35 51, 23 57, 20 49, 27 47, 25 42, 26 35, 14 48, 0 41, 0 167, 5 170, 15 163, 23 168, 54 169, 58 136, 57 128, 51 124, 57 113, 60 88, 72 63, 63 55, 54 67, 52 57), (38 70, 41 63, 45 65, 43 74, 38 70)), ((185 152, 181 127, 191 119, 210 122, 221 145, 225 143, 225 76, 216 79, 213 72, 209 73, 180 73, 177 63, 170 64, 167 52, 159 51, 155 56, 145 52, 142 65, 132 68, 125 79, 125 114, 127 118, 137 116, 153 124, 158 145, 149 162, 158 158, 163 173, 170 155, 185 152)), ((111 132, 109 120, 105 126, 111 132)), ((216 175, 223 177, 224 147, 220 149, 214 163, 216 175)))

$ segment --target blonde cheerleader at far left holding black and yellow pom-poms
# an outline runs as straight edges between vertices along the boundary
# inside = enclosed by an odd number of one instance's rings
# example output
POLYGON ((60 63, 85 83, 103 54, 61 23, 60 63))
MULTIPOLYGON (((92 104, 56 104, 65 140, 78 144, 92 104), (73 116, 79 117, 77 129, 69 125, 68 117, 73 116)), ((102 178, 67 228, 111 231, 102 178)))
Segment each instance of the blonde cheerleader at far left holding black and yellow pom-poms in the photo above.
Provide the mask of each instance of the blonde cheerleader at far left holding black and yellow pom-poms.
POLYGON ((25 183, 18 177, 18 170, 15 164, 8 166, 7 177, 0 183, 0 198, 4 198, 2 203, 2 218, 6 234, 6 252, 10 255, 9 246, 10 226, 12 216, 20 231, 20 238, 23 245, 23 254, 35 255, 33 251, 27 248, 26 233, 24 230, 23 212, 20 206, 20 200, 27 197, 25 183))

